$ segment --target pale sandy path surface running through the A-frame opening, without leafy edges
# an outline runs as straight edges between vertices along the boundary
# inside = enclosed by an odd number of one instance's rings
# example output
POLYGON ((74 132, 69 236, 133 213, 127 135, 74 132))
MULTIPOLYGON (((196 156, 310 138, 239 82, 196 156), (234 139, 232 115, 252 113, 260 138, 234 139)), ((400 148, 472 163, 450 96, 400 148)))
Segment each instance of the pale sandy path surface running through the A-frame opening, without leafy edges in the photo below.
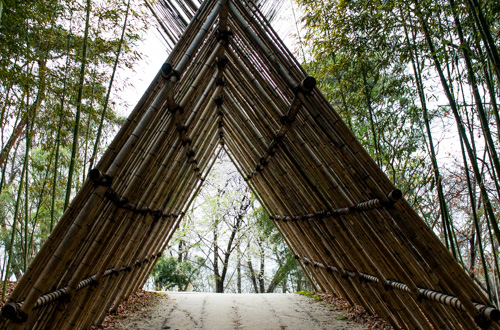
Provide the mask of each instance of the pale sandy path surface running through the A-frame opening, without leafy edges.
POLYGON ((168 293, 125 329, 365 329, 297 294, 168 293), (145 316, 144 316, 145 315, 145 316))

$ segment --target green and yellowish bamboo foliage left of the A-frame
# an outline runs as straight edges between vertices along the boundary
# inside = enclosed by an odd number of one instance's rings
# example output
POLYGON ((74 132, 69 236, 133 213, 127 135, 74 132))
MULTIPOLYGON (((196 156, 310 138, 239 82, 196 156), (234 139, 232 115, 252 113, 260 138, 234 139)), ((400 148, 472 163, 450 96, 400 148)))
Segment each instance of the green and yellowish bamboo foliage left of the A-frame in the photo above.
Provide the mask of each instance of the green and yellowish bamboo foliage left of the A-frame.
MULTIPOLYGON (((20 270, 20 275, 47 239, 52 222, 56 222, 63 211, 62 187, 68 181, 73 144, 71 132, 75 126, 85 5, 69 0, 2 0, 0 3, 3 6, 0 17, 0 244, 4 251, 13 247, 12 266, 14 271, 20 270), (27 182, 18 198, 20 173, 25 164, 27 182), (11 244, 14 206, 18 199, 22 207, 11 244)), ((96 140, 127 10, 121 0, 91 1, 91 4, 88 65, 78 126, 81 134, 72 191, 86 178, 92 152, 89 146, 96 140)), ((114 95, 128 84, 120 77, 120 71, 132 67, 142 57, 137 46, 146 29, 146 11, 137 3, 130 11, 133 18, 126 25, 98 155, 123 122, 122 114, 117 113, 121 102, 114 95)))

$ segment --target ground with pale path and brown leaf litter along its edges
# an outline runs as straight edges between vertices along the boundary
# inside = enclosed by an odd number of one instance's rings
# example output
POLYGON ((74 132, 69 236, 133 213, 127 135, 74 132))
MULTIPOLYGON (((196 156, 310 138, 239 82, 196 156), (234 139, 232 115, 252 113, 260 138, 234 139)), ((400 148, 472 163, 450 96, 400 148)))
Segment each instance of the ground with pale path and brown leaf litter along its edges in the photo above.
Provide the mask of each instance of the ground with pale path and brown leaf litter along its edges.
MULTIPOLYGON (((9 283, 7 296, 16 283, 9 283)), ((1 288, 1 286, 0 286, 1 288)), ((3 302, 0 301, 0 307, 3 302)), ((96 328, 93 328, 96 329, 96 328)), ((330 293, 219 294, 139 290, 99 329, 392 329, 330 293)))

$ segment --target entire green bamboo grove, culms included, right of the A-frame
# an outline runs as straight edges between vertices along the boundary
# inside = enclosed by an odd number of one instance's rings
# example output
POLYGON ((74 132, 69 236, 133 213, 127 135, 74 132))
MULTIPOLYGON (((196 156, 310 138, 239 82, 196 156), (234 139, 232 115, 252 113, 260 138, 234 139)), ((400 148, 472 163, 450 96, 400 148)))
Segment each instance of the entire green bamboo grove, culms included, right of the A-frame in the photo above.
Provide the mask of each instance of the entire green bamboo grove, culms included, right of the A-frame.
POLYGON ((498 301, 486 262, 477 271, 489 255, 500 279, 498 2, 297 2, 309 73, 406 200, 498 301), (478 249, 486 256, 478 258, 478 249))

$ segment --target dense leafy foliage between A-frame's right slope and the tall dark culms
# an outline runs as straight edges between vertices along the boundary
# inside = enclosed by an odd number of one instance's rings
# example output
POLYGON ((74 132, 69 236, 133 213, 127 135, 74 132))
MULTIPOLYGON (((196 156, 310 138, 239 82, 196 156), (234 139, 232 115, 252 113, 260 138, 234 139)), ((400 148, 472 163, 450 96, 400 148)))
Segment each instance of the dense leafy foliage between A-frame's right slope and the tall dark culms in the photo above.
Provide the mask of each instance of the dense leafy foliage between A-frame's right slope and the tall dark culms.
POLYGON ((377 1, 299 1, 306 69, 380 168, 417 207, 430 173, 399 24, 377 1))

